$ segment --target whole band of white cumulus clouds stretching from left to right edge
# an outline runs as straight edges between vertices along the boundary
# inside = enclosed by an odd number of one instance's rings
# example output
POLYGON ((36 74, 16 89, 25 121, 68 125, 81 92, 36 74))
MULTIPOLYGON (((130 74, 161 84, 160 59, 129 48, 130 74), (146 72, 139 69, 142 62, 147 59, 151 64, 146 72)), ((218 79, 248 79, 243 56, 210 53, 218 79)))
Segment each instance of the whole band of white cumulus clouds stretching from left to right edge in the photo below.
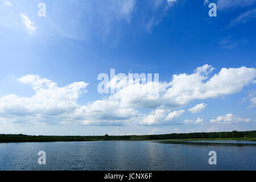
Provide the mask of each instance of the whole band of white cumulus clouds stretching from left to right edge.
MULTIPOLYGON (((86 105, 77 104, 82 93, 86 93, 86 82, 73 82, 59 87, 47 78, 26 75, 18 79, 32 86, 32 97, 18 97, 10 94, 0 97, 0 118, 13 123, 72 123, 82 125, 127 125, 135 122, 140 125, 176 125, 179 116, 185 111, 171 110, 183 107, 193 100, 215 98, 240 92, 243 86, 255 80, 255 68, 222 68, 210 77, 213 68, 210 65, 196 68, 192 74, 182 73, 172 76, 170 82, 149 81, 143 84, 119 87, 116 93, 86 105), (159 88, 159 96, 149 100, 148 92, 130 92, 145 90, 152 85, 159 88), (140 109, 151 109, 146 114, 140 109)), ((111 81, 110 81, 111 82, 111 81)), ((122 82, 119 80, 119 82, 122 82)), ((110 84, 111 85, 111 84, 110 84)), ((252 100, 254 103, 254 100, 252 100)), ((206 105, 199 104, 189 109, 197 112, 206 105)), ((214 120, 212 120, 214 122, 214 120)), ((189 121, 185 122, 188 123, 189 121)), ((197 118, 193 123, 203 122, 197 118)))

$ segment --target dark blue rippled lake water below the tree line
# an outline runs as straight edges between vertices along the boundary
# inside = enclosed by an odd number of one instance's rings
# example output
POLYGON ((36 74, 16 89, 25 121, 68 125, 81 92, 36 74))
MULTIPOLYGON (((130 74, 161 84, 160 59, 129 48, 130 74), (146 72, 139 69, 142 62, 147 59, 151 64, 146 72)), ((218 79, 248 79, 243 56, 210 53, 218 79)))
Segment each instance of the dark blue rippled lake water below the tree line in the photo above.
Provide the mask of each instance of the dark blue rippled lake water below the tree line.
POLYGON ((256 170, 255 145, 230 140, 0 143, 0 170, 256 170), (46 152, 46 165, 38 164, 39 151, 46 152), (208 163, 209 151, 217 152, 217 165, 208 163))

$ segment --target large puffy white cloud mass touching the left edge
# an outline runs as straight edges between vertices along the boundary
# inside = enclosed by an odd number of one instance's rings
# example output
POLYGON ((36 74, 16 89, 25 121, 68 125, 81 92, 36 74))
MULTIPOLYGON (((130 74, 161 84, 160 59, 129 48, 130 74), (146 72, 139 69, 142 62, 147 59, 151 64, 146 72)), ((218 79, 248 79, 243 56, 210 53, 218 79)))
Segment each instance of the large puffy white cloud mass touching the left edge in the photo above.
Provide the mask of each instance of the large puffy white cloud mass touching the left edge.
POLYGON ((72 120, 72 114, 79 105, 77 99, 86 92, 88 83, 74 82, 64 87, 57 87, 55 82, 36 75, 27 75, 18 79, 30 84, 35 94, 18 97, 11 94, 0 97, 0 117, 11 118, 13 122, 47 122, 59 123, 72 120))

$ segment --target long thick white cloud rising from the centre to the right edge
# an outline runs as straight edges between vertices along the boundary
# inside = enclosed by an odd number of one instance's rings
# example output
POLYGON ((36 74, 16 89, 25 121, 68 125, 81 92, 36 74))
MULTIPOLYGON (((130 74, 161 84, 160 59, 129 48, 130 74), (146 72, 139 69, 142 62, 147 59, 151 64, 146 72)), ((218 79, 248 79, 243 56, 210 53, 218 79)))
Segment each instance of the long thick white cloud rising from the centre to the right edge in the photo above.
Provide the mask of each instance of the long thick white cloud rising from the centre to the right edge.
POLYGON ((256 77, 255 68, 222 68, 219 73, 208 80, 209 73, 212 71, 213 68, 210 65, 204 65, 197 68, 191 75, 182 73, 172 76, 171 82, 156 83, 159 86, 159 97, 156 100, 148 100, 148 93, 134 93, 127 97, 127 90, 141 90, 147 88, 152 82, 145 85, 127 86, 110 96, 109 99, 119 101, 123 107, 175 109, 193 100, 238 93, 243 86, 250 84, 256 77))

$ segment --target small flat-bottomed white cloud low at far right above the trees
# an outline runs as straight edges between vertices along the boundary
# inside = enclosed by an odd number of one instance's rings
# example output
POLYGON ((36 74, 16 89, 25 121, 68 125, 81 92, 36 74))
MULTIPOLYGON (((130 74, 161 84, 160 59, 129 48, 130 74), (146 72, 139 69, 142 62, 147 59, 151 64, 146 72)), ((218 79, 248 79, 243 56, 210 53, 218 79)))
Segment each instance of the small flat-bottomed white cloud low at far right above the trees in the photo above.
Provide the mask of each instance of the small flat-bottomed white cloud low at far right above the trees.
POLYGON ((243 119, 240 117, 236 117, 233 114, 226 114, 218 116, 216 119, 210 119, 210 123, 218 123, 218 124, 231 124, 237 122, 249 122, 251 119, 243 119))

